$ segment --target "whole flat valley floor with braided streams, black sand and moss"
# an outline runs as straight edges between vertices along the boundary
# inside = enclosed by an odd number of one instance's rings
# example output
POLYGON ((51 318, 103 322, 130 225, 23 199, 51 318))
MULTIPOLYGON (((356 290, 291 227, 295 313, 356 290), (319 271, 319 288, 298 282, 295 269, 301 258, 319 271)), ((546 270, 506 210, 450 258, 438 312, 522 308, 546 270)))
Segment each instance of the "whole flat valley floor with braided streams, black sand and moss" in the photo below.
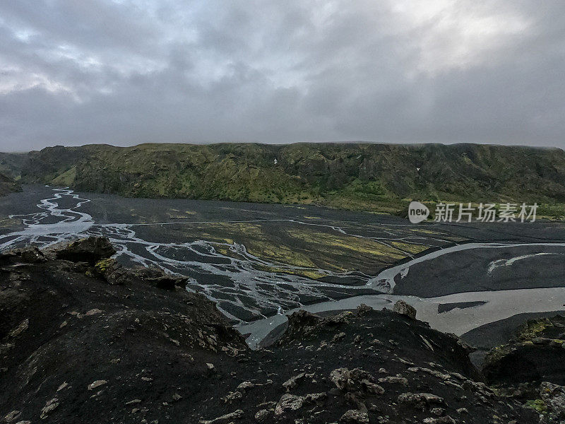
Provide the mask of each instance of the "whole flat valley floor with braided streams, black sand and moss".
POLYGON ((412 225, 316 206, 124 199, 25 186, 0 198, 0 251, 102 235, 122 264, 186 276, 258 343, 284 313, 408 299, 441 331, 563 309, 565 223, 412 225))

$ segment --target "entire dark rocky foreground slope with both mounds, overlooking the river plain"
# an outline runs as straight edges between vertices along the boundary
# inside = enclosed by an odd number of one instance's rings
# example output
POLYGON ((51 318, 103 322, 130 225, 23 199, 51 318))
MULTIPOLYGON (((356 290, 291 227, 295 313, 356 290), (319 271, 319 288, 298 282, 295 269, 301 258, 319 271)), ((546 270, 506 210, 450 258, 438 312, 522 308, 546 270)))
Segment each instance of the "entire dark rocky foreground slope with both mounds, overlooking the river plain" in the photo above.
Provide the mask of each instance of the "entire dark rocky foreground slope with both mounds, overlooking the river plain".
MULTIPOLYGON (((299 312, 283 338, 250 351, 182 278, 126 269, 112 253, 89 239, 0 255, 4 423, 540 419, 482 382, 468 346, 410 314, 299 312)), ((542 416, 557 417, 565 391, 547 384, 542 416)))

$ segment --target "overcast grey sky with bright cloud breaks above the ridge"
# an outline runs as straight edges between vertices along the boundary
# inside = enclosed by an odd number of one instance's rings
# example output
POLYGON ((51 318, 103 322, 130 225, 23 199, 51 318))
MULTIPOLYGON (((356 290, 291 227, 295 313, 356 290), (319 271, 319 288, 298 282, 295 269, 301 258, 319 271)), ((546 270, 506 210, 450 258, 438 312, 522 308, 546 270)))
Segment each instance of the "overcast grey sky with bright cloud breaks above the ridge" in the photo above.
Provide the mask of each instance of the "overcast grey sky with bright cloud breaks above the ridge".
POLYGON ((563 0, 0 0, 0 151, 565 147, 563 0))

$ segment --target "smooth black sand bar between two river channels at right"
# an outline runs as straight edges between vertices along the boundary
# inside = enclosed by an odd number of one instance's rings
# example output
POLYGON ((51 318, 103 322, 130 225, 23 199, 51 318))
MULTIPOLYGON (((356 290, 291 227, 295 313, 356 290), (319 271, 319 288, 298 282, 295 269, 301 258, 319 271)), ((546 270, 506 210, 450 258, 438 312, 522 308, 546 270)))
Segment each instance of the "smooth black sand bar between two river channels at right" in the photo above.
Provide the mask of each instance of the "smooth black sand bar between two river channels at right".
POLYGON ((396 278, 393 293, 434 298, 470 291, 562 287, 564 264, 565 246, 463 250, 413 264, 407 276, 396 278), (550 254, 519 259, 488 272, 493 261, 540 253, 550 254))

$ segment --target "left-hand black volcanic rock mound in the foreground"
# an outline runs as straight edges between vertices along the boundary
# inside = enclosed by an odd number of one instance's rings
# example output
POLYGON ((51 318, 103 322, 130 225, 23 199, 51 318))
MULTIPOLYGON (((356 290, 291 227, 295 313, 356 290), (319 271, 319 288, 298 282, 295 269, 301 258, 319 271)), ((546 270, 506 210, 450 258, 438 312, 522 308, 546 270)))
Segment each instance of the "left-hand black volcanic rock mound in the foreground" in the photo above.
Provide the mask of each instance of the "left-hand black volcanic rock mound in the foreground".
POLYGON ((13 411, 33 423, 186 422, 218 384, 206 364, 235 370, 233 355, 247 350, 201 295, 6 257, 15 260, 0 265, 0 422, 13 411))

